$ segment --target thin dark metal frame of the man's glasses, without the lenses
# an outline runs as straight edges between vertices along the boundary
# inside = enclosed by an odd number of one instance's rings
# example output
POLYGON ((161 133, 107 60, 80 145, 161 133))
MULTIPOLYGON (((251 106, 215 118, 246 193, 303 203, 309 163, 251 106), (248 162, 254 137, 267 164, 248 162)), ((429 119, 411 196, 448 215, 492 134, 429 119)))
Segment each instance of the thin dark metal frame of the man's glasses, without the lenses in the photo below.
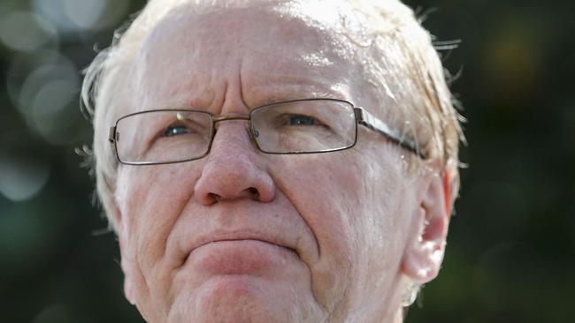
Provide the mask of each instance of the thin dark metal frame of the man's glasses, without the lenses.
POLYGON ((179 162, 192 162, 192 161, 202 159, 203 157, 210 154, 211 145, 213 143, 213 139, 214 139, 215 134, 217 132, 216 124, 219 122, 229 121, 229 120, 247 120, 249 123, 249 127, 248 127, 249 139, 251 140, 252 144, 254 146, 256 146, 257 150, 259 150, 260 152, 262 152, 264 154, 323 154, 323 153, 331 153, 331 152, 346 150, 346 149, 349 149, 349 148, 356 146, 356 144, 357 144, 357 124, 361 124, 364 127, 366 127, 367 129, 379 133, 380 135, 382 135, 383 137, 385 137, 389 141, 395 143, 396 145, 401 146, 404 149, 410 151, 410 153, 416 154, 420 159, 422 159, 422 160, 427 159, 426 154, 421 152, 421 150, 419 149, 418 143, 416 143, 415 141, 413 141, 409 138, 405 138, 405 136, 402 133, 400 133, 399 131, 396 131, 395 129, 392 129, 389 125, 387 125, 385 122, 383 122, 377 116, 373 116, 371 113, 369 113, 367 110, 365 110, 362 107, 356 107, 350 101, 345 101, 345 100, 340 100, 340 99, 331 99, 331 98, 311 98, 311 99, 297 99, 297 100, 273 102, 273 103, 265 104, 263 106, 259 106, 257 108, 251 109, 248 114, 231 113, 231 114, 227 114, 227 115, 223 115, 223 116, 217 116, 217 115, 212 114, 211 112, 196 110, 196 109, 151 109, 151 110, 139 111, 139 112, 130 113, 126 116, 120 117, 116 121, 116 124, 114 124, 113 126, 110 127, 110 132, 108 134, 108 140, 110 141, 111 145, 113 146, 113 150, 116 153, 116 159, 118 160, 118 162, 125 164, 125 165, 143 166, 143 165, 164 165, 164 164, 173 164, 173 163, 179 163, 179 162), (252 113, 254 111, 257 111, 258 109, 263 109, 263 108, 270 107, 273 105, 293 103, 293 102, 301 102, 301 101, 334 101, 334 102, 340 102, 340 103, 345 103, 345 104, 349 105, 349 107, 351 109, 353 109, 354 116, 356 119, 355 139, 354 139, 353 143, 349 146, 344 146, 341 148, 325 149, 325 150, 318 150, 318 151, 312 151, 312 152, 277 153, 277 152, 267 152, 264 149, 262 149, 257 144, 256 134, 255 134, 256 130, 254 129, 253 124, 251 122, 252 113), (210 144, 208 145, 208 148, 206 149, 206 153, 201 155, 201 156, 198 156, 198 157, 194 157, 194 158, 190 158, 190 159, 186 159, 186 160, 181 160, 181 161, 175 161, 175 162, 125 162, 125 161, 122 161, 119 158, 118 145, 116 145, 116 140, 118 138, 117 137, 118 133, 116 130, 118 129, 119 122, 121 120, 125 119, 126 117, 129 117, 129 116, 136 116, 136 115, 141 115, 143 113, 161 112, 161 111, 196 112, 196 113, 203 113, 203 114, 210 116, 210 118, 211 118, 211 136, 210 136, 210 144))

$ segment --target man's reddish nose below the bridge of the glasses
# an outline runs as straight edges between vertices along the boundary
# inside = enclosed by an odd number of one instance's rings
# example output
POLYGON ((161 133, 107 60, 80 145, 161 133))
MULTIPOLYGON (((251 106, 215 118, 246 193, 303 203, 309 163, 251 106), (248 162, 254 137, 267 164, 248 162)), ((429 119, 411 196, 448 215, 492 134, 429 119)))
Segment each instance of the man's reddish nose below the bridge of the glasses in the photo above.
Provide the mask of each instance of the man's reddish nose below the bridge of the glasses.
POLYGON ((273 199, 275 184, 250 142, 243 122, 219 124, 194 192, 196 200, 204 206, 228 199, 260 202, 273 199))

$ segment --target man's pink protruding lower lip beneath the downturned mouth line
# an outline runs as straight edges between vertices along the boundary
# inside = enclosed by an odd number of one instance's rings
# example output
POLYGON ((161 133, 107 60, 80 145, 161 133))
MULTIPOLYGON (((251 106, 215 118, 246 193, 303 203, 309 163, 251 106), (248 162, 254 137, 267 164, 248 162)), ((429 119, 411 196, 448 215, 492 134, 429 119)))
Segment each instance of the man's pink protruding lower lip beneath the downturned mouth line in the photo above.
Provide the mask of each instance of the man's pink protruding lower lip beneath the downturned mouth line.
POLYGON ((297 259, 286 247, 260 240, 225 240, 203 244, 190 253, 193 267, 202 274, 265 275, 297 259))

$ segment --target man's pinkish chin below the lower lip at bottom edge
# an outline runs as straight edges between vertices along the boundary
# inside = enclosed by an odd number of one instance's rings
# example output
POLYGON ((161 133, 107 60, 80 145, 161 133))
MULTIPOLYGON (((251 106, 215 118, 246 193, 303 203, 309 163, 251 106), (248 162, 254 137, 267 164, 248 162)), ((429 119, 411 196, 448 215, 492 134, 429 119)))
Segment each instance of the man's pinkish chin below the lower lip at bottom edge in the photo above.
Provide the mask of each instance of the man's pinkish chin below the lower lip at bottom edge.
POLYGON ((249 275, 225 275, 174 299, 169 323, 320 322, 323 313, 293 289, 249 275), (282 292, 283 291, 283 292, 282 292), (285 293, 290 291, 288 293, 285 293))

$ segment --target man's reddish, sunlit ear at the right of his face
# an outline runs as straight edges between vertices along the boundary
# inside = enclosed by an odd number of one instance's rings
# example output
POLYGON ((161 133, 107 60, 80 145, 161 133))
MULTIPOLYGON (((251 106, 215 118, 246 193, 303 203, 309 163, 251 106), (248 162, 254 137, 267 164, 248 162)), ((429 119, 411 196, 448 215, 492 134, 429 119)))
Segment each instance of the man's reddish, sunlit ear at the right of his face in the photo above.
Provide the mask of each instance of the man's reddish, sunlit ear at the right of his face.
POLYGON ((418 207, 413 214, 409 242, 403 252, 402 272, 412 282, 426 283, 437 276, 443 261, 451 209, 451 175, 429 174, 422 179, 418 207))

